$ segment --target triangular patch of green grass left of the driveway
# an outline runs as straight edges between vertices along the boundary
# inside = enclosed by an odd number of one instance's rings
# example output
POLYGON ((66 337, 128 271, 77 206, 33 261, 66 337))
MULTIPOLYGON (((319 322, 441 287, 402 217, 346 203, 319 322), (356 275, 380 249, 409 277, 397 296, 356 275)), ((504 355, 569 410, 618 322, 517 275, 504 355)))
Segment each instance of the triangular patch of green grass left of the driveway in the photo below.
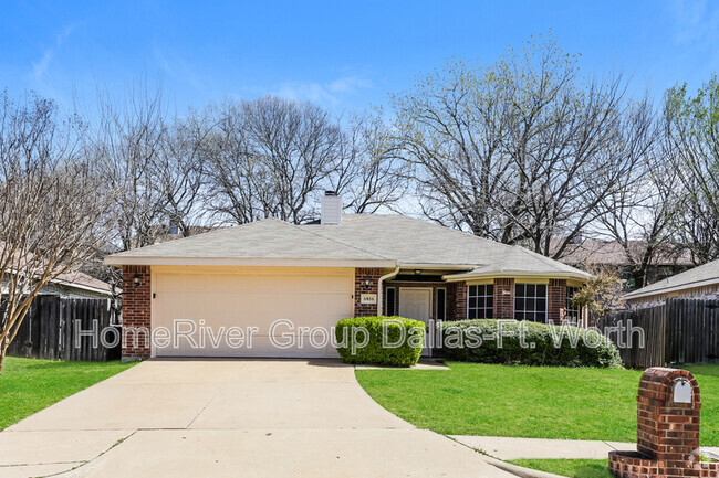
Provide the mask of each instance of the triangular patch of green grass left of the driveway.
POLYGON ((0 374, 0 429, 132 365, 8 357, 0 374))

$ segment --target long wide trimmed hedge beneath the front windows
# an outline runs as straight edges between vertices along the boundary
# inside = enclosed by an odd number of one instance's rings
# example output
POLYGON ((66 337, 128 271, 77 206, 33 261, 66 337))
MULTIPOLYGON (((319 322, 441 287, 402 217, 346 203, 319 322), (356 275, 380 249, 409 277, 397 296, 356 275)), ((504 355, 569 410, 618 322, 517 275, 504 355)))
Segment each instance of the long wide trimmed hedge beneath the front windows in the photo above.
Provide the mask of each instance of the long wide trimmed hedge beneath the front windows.
POLYGON ((441 353, 450 360, 522 365, 622 367, 619 351, 614 343, 592 329, 494 319, 446 321, 439 329, 441 353), (503 334, 501 347, 499 340, 494 339, 499 337, 500 328, 503 334), (524 330, 523 342, 521 329, 524 330))

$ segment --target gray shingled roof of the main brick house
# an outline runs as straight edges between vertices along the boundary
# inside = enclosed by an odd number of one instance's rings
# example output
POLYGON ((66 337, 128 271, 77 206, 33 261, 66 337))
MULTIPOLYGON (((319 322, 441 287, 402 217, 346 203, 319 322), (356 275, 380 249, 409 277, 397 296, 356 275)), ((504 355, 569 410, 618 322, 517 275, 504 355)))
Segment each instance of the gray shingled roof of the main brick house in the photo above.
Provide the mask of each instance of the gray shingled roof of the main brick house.
POLYGON ((473 274, 588 276, 523 247, 418 219, 381 214, 346 214, 341 225, 258 221, 115 254, 108 262, 168 257, 393 261, 406 266, 462 266, 475 269, 473 274))

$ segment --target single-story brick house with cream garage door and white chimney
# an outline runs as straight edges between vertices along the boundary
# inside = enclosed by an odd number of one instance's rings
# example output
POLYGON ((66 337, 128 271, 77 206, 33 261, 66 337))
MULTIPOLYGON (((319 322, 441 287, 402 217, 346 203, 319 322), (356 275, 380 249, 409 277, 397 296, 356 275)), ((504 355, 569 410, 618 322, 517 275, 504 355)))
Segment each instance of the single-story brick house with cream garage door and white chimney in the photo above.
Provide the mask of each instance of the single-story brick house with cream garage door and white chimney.
POLYGON ((173 339, 127 340, 124 357, 336 357, 315 346, 352 316, 581 320, 567 297, 585 272, 417 219, 341 211, 326 195, 320 224, 264 220, 108 256, 123 269, 126 333, 173 339), (226 343, 230 327, 257 327, 252 347, 226 343))

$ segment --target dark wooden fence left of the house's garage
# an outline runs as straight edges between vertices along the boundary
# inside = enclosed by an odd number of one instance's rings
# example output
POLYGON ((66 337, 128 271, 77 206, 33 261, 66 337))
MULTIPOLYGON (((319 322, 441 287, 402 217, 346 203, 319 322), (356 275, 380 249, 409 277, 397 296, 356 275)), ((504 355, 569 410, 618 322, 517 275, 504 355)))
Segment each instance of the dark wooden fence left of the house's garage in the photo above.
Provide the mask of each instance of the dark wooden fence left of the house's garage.
POLYGON ((117 360, 122 352, 117 339, 122 330, 114 322, 115 311, 110 299, 39 296, 10 343, 8 354, 49 360, 117 360), (95 340, 87 333, 92 330, 97 331, 95 340), (101 334, 103 330, 105 333, 101 334), (118 343, 104 347, 101 336, 105 342, 118 343))

